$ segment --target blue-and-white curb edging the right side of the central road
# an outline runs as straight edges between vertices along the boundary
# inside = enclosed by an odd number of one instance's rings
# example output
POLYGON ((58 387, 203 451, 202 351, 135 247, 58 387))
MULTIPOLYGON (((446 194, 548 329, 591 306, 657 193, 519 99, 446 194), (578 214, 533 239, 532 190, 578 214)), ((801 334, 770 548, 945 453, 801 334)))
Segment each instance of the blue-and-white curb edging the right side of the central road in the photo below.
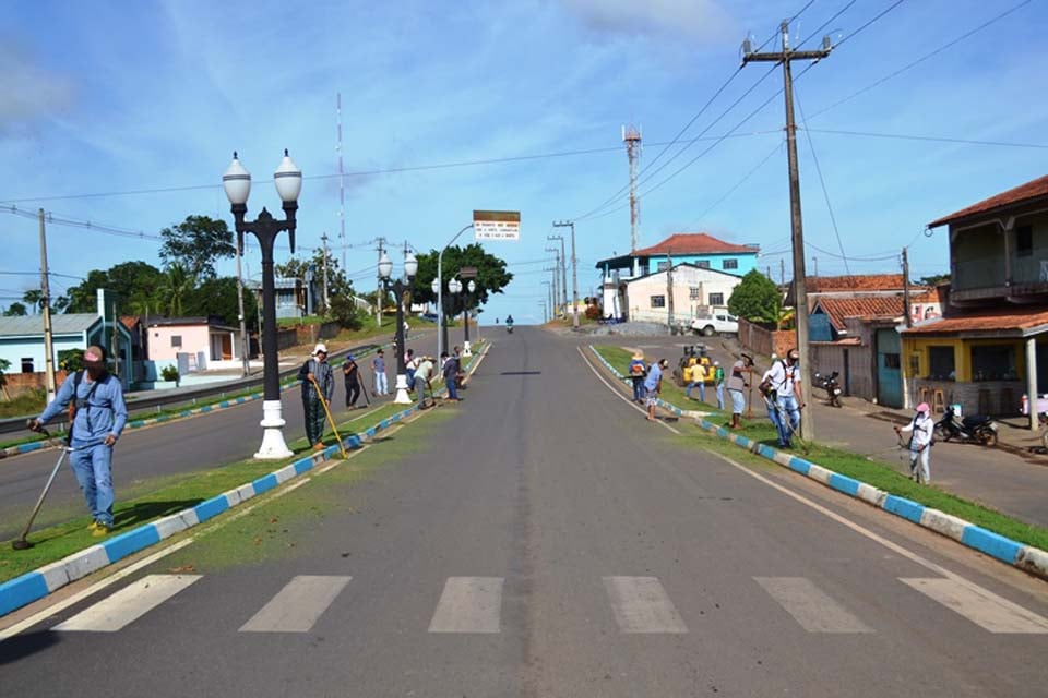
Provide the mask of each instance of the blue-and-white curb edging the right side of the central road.
MULTIPOLYGON (((622 377, 615 366, 608 363, 592 345, 590 346, 590 350, 609 371, 622 377)), ((669 402, 664 402, 662 399, 658 400, 658 405, 674 414, 680 416, 682 413, 679 408, 669 402)), ((945 512, 926 507, 924 504, 914 502, 913 500, 890 494, 854 478, 842 476, 818 464, 805 460, 799 456, 781 452, 767 444, 762 444, 741 434, 736 434, 725 426, 718 426, 704 419, 700 418, 695 423, 705 431, 712 432, 720 438, 731 442, 736 446, 746 448, 750 453, 785 466, 794 472, 821 482, 837 492, 861 500, 879 509, 883 509, 889 514, 894 514, 922 528, 953 539, 962 545, 977 550, 1013 567, 1019 567, 1038 577, 1048 579, 1048 552, 1039 547, 1019 543, 1010 538, 987 530, 981 526, 976 526, 962 518, 946 514, 945 512)))

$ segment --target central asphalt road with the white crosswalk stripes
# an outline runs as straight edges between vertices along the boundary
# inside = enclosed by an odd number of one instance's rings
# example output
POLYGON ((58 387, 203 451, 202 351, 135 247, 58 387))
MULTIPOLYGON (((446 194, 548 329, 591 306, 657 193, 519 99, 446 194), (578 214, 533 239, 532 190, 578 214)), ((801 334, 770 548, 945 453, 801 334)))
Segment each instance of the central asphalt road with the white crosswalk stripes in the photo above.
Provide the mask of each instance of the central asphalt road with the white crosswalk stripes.
POLYGON ((495 339, 295 556, 157 563, 0 643, 4 695, 1044 696, 1044 582, 495 339))

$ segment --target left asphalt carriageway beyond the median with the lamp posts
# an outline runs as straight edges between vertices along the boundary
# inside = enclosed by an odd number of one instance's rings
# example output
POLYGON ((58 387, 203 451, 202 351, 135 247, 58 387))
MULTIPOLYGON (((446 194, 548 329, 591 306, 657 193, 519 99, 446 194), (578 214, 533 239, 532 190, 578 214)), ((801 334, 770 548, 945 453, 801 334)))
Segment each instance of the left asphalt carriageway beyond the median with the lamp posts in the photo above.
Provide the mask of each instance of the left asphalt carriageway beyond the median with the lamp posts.
MULTIPOLYGON (((457 339, 457 337, 453 338, 457 339)), ((437 338, 426 335, 420 341, 412 341, 416 351, 436 353, 437 338)), ((390 397, 373 396, 372 357, 365 357, 361 373, 368 395, 374 401, 388 401, 390 397)), ((393 356, 386 352, 386 375, 390 390, 395 383, 396 365, 393 356)), ((306 435, 301 399, 297 389, 282 394, 284 402, 284 438, 293 442, 306 435)), ((345 388, 342 374, 335 371, 335 396, 332 404, 340 410, 335 417, 346 414, 345 388)), ((360 397, 358 405, 364 405, 360 397)), ((117 498, 129 489, 142 485, 153 478, 202 470, 250 458, 262 441, 262 401, 254 400, 216 412, 207 412, 188 419, 166 422, 143 429, 124 431, 114 452, 112 478, 117 498)), ((33 452, 0 460, 0 540, 17 535, 36 498, 47 482, 47 477, 58 460, 59 452, 33 452)), ((68 465, 63 466, 48 493, 46 504, 34 528, 69 520, 86 513, 76 479, 68 465)))

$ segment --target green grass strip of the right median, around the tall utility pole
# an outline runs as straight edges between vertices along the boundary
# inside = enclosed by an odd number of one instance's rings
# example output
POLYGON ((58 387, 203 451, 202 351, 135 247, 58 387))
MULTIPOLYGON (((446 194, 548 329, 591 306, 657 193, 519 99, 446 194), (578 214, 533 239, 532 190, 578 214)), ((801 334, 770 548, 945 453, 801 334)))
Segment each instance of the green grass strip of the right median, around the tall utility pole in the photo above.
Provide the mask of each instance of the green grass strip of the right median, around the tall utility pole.
MULTIPOLYGON (((629 351, 620 347, 610 346, 595 346, 594 349, 619 373, 626 373, 632 356, 629 351)), ((672 385, 672 381, 669 378, 663 381, 663 399, 677 407, 686 406, 681 409, 689 409, 691 404, 690 400, 684 398, 684 392, 676 385, 672 385)), ((706 408, 708 408, 708 406, 704 406, 704 411, 706 408)), ((708 408, 708 411, 712 413, 710 418, 707 418, 707 421, 718 424, 727 421, 728 416, 726 413, 713 408, 708 408)), ((763 412, 763 409, 761 412, 763 412)), ((757 410, 754 410, 754 414, 758 414, 757 410)), ((778 437, 775 428, 772 426, 763 413, 761 417, 764 417, 764 419, 757 418, 745 421, 742 429, 736 430, 736 433, 776 447, 778 437)), ((741 454, 747 454, 745 461, 750 465, 755 462, 771 462, 759 456, 748 454, 745 449, 701 428, 686 432, 686 434, 689 442, 696 443, 703 448, 729 455, 735 459, 740 459, 741 454)), ((1020 521, 986 505, 944 492, 933 484, 918 484, 904 473, 895 470, 892 464, 884 460, 869 458, 843 448, 824 446, 820 443, 810 443, 807 445, 809 452, 807 454, 798 454, 805 460, 818 464, 842 476, 854 478, 860 482, 889 492, 890 494, 905 497, 927 507, 956 516, 1019 543, 1033 545, 1040 550, 1048 550, 1048 529, 1044 527, 1020 521)))

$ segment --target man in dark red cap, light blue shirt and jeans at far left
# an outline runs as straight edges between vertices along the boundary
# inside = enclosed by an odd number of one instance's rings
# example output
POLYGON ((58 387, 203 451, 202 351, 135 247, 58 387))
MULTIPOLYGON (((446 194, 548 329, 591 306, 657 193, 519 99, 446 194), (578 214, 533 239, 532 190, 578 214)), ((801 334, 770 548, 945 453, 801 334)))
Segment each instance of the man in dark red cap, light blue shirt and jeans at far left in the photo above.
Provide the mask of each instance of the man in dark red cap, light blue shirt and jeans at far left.
POLYGON ((84 370, 70 374, 55 399, 28 428, 39 431, 72 405, 69 426, 70 466, 94 518, 93 535, 112 530, 112 445, 128 421, 123 386, 106 371, 106 353, 100 347, 87 347, 84 370))

